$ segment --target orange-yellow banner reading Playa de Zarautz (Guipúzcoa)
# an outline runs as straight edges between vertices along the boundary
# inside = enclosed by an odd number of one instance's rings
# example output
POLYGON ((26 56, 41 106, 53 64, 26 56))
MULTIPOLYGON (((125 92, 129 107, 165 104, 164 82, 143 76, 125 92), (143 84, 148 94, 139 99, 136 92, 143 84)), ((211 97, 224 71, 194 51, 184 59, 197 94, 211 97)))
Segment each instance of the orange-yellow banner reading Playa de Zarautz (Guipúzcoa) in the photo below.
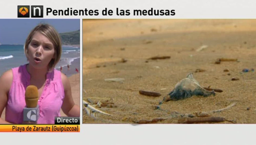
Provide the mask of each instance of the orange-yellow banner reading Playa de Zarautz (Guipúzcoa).
POLYGON ((80 132, 80 125, 0 125, 0 132, 80 132))

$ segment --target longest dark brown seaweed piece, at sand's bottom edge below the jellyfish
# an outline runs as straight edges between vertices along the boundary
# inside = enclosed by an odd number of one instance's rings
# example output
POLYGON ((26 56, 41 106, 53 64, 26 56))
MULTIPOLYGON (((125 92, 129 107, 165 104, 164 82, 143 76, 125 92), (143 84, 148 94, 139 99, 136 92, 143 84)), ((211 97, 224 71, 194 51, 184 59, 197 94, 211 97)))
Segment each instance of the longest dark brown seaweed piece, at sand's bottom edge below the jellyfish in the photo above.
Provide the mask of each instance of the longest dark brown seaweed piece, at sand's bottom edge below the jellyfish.
POLYGON ((192 124, 192 123, 203 123, 203 122, 222 122, 225 121, 224 117, 199 117, 199 118, 180 118, 178 123, 192 124))

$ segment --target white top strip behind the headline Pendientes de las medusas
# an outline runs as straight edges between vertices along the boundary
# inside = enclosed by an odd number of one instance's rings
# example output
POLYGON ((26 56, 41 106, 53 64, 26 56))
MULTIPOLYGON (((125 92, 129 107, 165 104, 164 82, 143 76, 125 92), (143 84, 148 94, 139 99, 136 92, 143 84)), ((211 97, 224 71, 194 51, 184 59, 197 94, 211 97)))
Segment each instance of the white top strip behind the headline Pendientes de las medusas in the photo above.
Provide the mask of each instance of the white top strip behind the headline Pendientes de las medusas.
POLYGON ((256 1, 214 0, 1 0, 0 18, 17 18, 17 5, 43 5, 44 18, 256 18, 256 1), (46 8, 52 9, 175 9, 175 16, 46 16, 46 8))

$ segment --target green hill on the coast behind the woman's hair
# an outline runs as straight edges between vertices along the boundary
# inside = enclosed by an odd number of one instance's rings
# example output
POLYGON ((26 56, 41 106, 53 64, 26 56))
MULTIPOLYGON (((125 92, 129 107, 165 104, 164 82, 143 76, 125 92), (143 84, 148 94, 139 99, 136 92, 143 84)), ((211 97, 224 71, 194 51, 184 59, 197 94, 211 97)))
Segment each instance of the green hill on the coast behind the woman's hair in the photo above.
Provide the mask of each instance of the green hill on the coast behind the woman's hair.
POLYGON ((80 44, 80 30, 60 33, 62 45, 79 45, 80 44))

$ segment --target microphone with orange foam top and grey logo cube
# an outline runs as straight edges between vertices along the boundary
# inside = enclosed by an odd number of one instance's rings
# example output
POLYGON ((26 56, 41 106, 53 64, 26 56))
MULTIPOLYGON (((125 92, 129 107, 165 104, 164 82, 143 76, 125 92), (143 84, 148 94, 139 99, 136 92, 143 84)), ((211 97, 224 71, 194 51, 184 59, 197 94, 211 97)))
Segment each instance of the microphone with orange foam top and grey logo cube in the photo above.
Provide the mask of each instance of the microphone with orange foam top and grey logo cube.
POLYGON ((36 124, 39 118, 38 89, 34 85, 29 85, 25 92, 26 107, 23 109, 23 122, 31 122, 36 124))

